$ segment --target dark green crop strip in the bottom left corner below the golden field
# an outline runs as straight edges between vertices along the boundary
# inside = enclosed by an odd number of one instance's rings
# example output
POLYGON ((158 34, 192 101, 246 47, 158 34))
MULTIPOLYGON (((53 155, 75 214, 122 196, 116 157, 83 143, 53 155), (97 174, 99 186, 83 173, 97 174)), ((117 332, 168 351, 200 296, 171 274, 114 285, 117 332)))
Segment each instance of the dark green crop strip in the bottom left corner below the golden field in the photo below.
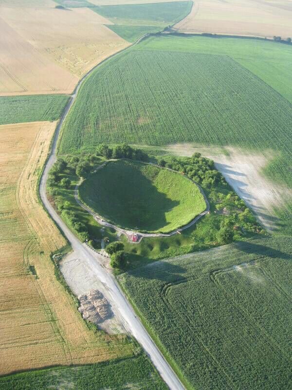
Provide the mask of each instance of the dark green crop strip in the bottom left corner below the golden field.
POLYGON ((120 361, 74 367, 53 367, 0 377, 1 390, 128 389, 166 390, 144 354, 120 361))

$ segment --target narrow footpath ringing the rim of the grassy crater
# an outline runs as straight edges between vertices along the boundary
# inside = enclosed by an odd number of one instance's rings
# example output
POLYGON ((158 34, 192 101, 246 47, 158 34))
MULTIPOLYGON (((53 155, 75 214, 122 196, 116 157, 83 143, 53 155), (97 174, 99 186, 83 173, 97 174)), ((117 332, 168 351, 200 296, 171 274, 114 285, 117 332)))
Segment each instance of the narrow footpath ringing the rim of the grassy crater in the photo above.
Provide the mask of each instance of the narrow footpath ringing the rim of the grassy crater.
MULTIPOLYGON (((100 165, 95 171, 97 172, 99 169, 102 169, 105 165, 107 165, 108 162, 110 161, 115 161, 115 160, 109 160, 109 161, 106 161, 105 163, 103 163, 102 165, 100 165)), ((157 165, 157 164, 154 164, 154 163, 150 163, 150 162, 142 162, 142 161, 136 161, 136 162, 139 162, 139 163, 143 163, 143 164, 147 164, 147 165, 153 165, 155 167, 158 167, 160 169, 166 169, 168 171, 171 171, 171 172, 174 172, 176 173, 177 175, 180 175, 179 172, 173 170, 173 169, 170 169, 170 168, 162 168, 161 166, 157 165)), ((172 232, 170 233, 143 233, 143 232, 137 232, 137 231, 132 231, 132 230, 126 230, 126 229, 123 229, 123 228, 120 228, 118 226, 115 226, 113 224, 111 224, 110 222, 107 222, 105 221, 100 215, 96 214, 94 211, 91 210, 91 208, 89 208, 88 206, 86 206, 84 203, 81 202, 81 200, 79 199, 78 197, 78 188, 79 188, 79 185, 82 183, 82 181, 80 181, 79 183, 76 184, 75 186, 75 191, 74 191, 74 197, 75 197, 75 200, 76 202, 79 204, 80 207, 82 207, 82 209, 84 209, 85 211, 87 211, 90 215, 93 216, 93 218, 102 226, 106 226, 108 228, 113 228, 114 230, 116 230, 117 232, 119 232, 120 234, 125 234, 127 237, 128 237, 128 240, 129 242, 133 243, 133 244, 137 244, 139 243, 143 237, 170 237, 174 234, 180 234, 181 231, 193 226, 202 216, 206 215, 209 210, 210 210, 210 205, 209 205, 209 202, 208 202, 208 199, 203 191, 203 189, 201 188, 201 186, 196 183, 194 180, 192 180, 190 177, 188 176, 185 176, 185 178, 187 180, 190 180, 192 183, 194 183, 194 185, 196 185, 201 194, 203 195, 204 197, 204 201, 206 203, 206 209, 200 213, 199 215, 197 215, 194 219, 192 219, 188 224, 180 227, 179 229, 176 229, 176 230, 173 230, 172 232), (133 234, 137 234, 137 241, 132 241, 132 237, 133 237, 133 234)))

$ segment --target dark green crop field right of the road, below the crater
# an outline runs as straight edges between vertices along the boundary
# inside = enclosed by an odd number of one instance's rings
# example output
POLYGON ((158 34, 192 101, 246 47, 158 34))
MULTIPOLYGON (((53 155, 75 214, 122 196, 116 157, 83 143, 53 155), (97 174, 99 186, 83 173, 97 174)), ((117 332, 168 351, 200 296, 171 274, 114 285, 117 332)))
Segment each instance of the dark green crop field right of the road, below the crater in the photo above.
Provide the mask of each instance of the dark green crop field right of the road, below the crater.
POLYGON ((291 237, 152 263, 119 281, 188 389, 291 387, 291 237))

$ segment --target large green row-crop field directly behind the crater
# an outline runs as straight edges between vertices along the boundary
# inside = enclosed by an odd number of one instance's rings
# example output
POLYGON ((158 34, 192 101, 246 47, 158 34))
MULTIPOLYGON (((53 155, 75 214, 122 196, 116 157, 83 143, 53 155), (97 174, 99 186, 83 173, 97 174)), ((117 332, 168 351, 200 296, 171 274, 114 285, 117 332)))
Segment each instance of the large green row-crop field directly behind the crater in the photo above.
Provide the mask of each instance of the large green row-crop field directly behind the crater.
POLYGON ((270 177, 291 185, 292 106, 285 98, 230 57, 145 47, 111 59, 85 81, 59 153, 92 151, 101 142, 271 148, 280 156, 270 177))

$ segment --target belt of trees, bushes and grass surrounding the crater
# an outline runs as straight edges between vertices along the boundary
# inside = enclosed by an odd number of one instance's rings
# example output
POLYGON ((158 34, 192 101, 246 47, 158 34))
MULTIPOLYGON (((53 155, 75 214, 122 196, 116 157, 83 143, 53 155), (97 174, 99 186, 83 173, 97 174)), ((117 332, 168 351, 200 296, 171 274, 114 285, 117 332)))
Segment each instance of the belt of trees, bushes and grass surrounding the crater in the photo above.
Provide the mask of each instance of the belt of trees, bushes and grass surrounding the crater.
MULTIPOLYGON (((124 152, 128 150, 123 145, 118 145, 113 150, 120 151, 121 148, 124 152)), ((101 145, 98 153, 101 150, 106 153, 110 149, 107 145, 101 145)), ((154 158, 152 160, 157 161, 154 158)), ((204 215, 195 225, 182 231, 181 234, 171 237, 147 237, 133 245, 128 242, 125 235, 122 235, 119 239, 124 243, 126 254, 124 269, 137 267, 157 259, 218 246, 226 242, 225 239, 220 238, 219 234, 225 228, 231 232, 229 235, 233 236, 235 241, 246 240, 254 233, 264 233, 244 202, 234 193, 223 176, 215 170, 212 160, 203 158, 197 153, 190 158, 164 156, 157 162, 179 173, 183 172, 186 176, 196 180, 207 195, 210 214, 204 215)), ((87 165, 89 172, 87 176, 103 163, 103 157, 96 155, 63 156, 52 168, 48 180, 48 191, 57 211, 73 232, 81 240, 88 239, 89 244, 95 249, 101 249, 102 238, 106 243, 116 241, 118 239, 116 232, 99 225, 77 204, 74 199, 74 188, 80 180, 80 177, 76 175, 77 167, 87 165), (60 171, 61 168, 63 171, 60 171), (61 184, 63 178, 70 180, 70 188, 65 188, 61 184)), ((106 247, 106 250, 110 245, 106 247)), ((117 250, 122 250, 122 248, 117 250)))

